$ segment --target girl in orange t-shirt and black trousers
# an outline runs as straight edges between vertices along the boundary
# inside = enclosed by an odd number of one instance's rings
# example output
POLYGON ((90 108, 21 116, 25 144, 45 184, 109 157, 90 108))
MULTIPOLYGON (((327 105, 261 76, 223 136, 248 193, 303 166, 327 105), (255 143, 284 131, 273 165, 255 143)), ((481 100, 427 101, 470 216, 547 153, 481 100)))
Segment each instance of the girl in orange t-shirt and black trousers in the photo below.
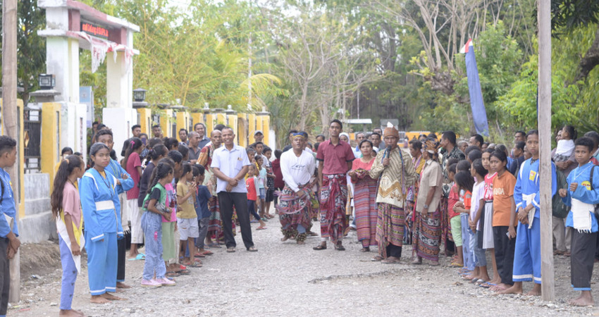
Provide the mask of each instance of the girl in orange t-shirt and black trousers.
MULTIPOLYGON (((501 283, 492 290, 502 291, 514 285, 514 249, 516 247, 516 204, 514 187, 516 178, 507 171, 507 156, 503 151, 494 151, 489 159, 492 170, 497 171, 493 180, 493 242, 495 260, 501 283)), ((485 215, 486 216, 486 215, 485 215)))

